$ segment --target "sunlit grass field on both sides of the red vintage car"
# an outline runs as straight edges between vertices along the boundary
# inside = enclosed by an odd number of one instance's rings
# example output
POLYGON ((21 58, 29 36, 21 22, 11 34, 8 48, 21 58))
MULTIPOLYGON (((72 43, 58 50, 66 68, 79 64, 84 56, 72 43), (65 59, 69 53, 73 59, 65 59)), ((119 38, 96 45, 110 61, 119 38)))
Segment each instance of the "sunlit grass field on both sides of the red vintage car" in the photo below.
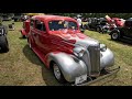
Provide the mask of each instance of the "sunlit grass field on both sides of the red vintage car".
MULTIPOLYGON (((11 22, 4 22, 8 24, 11 22)), ((15 31, 9 31, 10 51, 0 54, 1 86, 62 86, 56 81, 38 57, 29 48, 26 38, 21 38, 19 30, 22 22, 14 22, 15 31)), ((92 31, 85 33, 107 46, 114 53, 116 67, 121 66, 117 76, 109 77, 91 86, 132 86, 132 45, 110 40, 108 34, 92 31)))

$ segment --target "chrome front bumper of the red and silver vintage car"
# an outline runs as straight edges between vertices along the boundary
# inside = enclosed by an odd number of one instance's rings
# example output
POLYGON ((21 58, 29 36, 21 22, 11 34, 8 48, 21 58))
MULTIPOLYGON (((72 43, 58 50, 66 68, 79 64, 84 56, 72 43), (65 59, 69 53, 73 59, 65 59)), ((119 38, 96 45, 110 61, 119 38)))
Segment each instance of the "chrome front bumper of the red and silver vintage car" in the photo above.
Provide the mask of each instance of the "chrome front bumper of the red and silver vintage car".
POLYGON ((99 81, 99 80, 102 80, 102 79, 105 79, 105 78, 107 78, 107 77, 110 77, 110 76, 112 76, 112 75, 116 75, 119 70, 120 70, 120 66, 119 66, 118 68, 108 70, 107 74, 101 74, 100 77, 98 77, 98 78, 96 78, 96 79, 87 80, 87 81, 85 81, 85 82, 82 82, 82 84, 78 84, 78 85, 75 85, 75 84, 74 84, 74 85, 72 85, 72 86, 88 86, 88 85, 95 84, 95 82, 97 82, 97 81, 99 81))

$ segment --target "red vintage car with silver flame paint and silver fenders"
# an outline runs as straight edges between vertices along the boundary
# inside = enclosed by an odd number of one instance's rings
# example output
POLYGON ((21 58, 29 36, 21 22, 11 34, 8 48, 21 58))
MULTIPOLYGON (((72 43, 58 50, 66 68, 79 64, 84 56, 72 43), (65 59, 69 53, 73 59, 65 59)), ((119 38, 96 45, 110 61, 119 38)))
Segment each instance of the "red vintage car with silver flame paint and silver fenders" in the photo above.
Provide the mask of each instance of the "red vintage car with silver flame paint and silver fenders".
POLYGON ((81 33, 73 18, 32 16, 28 42, 62 84, 88 85, 119 72, 119 68, 109 68, 114 64, 113 53, 81 33))

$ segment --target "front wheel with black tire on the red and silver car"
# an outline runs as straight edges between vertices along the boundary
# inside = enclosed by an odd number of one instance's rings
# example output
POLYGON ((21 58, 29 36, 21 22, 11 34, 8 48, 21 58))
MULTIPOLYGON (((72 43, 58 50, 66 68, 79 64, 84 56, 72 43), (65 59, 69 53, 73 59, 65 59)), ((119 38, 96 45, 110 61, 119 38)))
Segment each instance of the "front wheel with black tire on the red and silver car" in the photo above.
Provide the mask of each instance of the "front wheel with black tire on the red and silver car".
POLYGON ((66 79, 64 78, 64 75, 62 74, 62 72, 56 63, 53 64, 53 74, 58 82, 66 84, 66 79))

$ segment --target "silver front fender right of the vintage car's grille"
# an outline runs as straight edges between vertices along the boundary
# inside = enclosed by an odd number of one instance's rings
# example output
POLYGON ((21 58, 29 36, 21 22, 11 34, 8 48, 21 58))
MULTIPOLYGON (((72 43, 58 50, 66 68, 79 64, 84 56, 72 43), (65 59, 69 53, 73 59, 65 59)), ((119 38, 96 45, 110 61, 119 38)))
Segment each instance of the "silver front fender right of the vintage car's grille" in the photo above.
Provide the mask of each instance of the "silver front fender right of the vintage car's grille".
POLYGON ((100 52, 101 53, 101 58, 100 58, 100 67, 110 67, 113 66, 114 64, 114 55, 113 53, 107 48, 106 52, 100 52))

